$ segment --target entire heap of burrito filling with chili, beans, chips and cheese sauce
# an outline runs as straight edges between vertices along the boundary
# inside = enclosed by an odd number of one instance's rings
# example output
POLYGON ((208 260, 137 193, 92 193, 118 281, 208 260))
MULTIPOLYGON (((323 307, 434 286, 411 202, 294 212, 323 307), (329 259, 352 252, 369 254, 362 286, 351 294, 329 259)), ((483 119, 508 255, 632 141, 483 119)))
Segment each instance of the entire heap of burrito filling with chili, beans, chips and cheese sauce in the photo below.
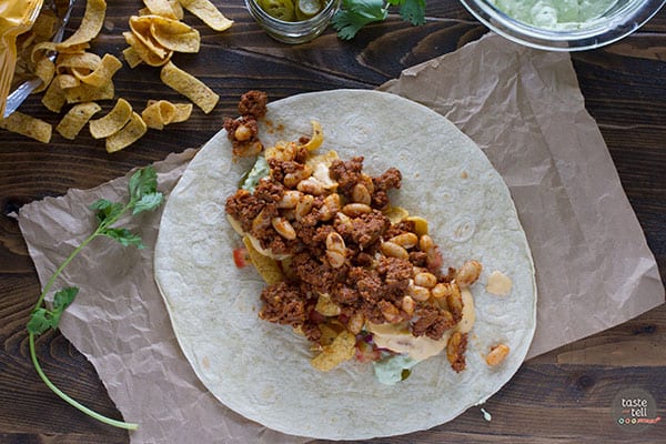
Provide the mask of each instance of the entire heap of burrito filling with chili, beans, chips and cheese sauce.
POLYGON ((248 104, 252 94, 243 100, 254 114, 226 120, 225 128, 234 155, 259 157, 225 211, 243 239, 236 265, 246 255, 269 284, 259 316, 304 335, 320 371, 355 359, 394 384, 442 352, 455 372, 464 371, 474 323, 468 287, 481 263, 444 268, 427 221, 391 204, 400 170, 371 175, 362 155, 317 153, 319 122, 310 137, 264 148, 255 124, 264 111, 248 104))

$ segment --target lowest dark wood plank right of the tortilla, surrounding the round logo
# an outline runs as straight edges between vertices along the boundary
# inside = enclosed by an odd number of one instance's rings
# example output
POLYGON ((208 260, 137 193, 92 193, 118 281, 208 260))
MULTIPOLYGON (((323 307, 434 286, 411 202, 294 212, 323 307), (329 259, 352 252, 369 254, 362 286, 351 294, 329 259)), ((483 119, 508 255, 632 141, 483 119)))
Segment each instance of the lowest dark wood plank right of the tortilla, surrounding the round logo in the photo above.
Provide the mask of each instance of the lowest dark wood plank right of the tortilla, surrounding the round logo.
MULTIPOLYGON (((657 405, 666 401, 666 385, 655 383, 653 371, 652 367, 527 364, 483 405, 492 414, 491 422, 483 418, 480 407, 471 407, 455 421, 431 431, 377 442, 620 442, 618 434, 623 432, 614 425, 612 405, 622 387, 647 385, 657 405)), ((666 427, 657 425, 640 435, 625 436, 632 443, 657 443, 666 438, 666 427)))

